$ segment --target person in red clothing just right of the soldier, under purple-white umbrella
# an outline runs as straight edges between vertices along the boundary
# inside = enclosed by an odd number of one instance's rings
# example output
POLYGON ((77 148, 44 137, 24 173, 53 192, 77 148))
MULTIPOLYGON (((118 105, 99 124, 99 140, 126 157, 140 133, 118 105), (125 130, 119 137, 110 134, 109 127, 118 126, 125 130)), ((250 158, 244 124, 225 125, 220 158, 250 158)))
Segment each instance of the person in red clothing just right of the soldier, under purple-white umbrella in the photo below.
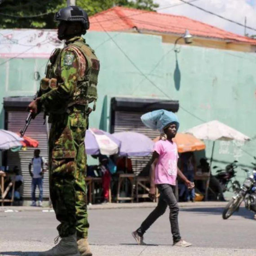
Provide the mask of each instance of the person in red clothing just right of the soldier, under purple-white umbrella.
POLYGON ((102 187, 103 187, 103 204, 109 203, 109 190, 111 183, 111 173, 115 173, 116 166, 114 162, 106 155, 99 155, 100 168, 103 173, 102 187))

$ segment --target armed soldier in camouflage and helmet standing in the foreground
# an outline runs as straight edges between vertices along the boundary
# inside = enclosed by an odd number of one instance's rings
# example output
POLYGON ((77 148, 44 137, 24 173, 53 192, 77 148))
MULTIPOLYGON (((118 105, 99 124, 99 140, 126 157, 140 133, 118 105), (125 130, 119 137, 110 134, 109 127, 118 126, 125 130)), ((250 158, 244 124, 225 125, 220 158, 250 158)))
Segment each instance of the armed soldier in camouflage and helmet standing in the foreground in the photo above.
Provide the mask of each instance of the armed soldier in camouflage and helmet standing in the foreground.
MULTIPOLYGON (((60 243, 40 256, 92 256, 88 244, 86 154, 84 137, 88 115, 97 100, 99 61, 81 37, 89 29, 87 13, 76 6, 55 14, 58 38, 66 46, 55 49, 40 82, 39 97, 29 110, 42 108, 52 124, 49 136, 49 186, 60 243)), ((58 237, 58 238, 59 238, 58 237)), ((58 241, 56 239, 56 243, 58 241)))

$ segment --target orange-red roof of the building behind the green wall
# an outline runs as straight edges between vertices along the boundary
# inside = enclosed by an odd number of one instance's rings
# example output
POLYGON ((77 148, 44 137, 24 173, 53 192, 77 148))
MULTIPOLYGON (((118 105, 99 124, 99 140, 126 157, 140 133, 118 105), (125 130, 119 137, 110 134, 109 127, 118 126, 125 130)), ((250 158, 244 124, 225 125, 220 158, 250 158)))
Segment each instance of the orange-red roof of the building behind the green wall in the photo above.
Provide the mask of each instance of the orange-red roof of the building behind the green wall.
POLYGON ((91 31, 141 31, 182 35, 188 29, 198 37, 256 44, 256 40, 184 16, 114 7, 90 17, 91 31))

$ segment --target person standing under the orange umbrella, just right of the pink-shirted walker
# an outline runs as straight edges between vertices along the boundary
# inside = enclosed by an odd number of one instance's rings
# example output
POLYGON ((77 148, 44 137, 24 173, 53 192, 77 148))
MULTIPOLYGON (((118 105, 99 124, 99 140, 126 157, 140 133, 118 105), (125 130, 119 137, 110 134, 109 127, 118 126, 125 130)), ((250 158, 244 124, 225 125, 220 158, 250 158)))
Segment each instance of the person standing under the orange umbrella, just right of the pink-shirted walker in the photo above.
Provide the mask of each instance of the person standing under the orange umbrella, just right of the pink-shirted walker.
MULTIPOLYGON (((196 163, 195 163, 193 152, 185 152, 181 154, 181 172, 185 175, 185 177, 189 181, 194 182, 194 173, 196 172, 196 163)), ((194 198, 195 198, 194 188, 192 190, 189 190, 185 185, 183 187, 185 189, 186 202, 190 202, 190 200, 191 202, 194 202, 194 198)))

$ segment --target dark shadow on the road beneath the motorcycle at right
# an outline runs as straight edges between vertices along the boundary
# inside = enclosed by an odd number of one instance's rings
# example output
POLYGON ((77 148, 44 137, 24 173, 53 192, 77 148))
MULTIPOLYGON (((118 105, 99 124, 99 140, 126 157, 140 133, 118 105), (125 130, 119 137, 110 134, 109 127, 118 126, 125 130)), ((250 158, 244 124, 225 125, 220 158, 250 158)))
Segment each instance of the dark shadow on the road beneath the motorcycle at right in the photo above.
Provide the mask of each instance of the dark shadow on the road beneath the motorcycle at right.
MULTIPOLYGON (((215 214, 222 215, 223 207, 194 207, 194 208, 181 208, 182 212, 197 212, 199 214, 215 214)), ((238 212, 234 212, 233 216, 241 216, 246 219, 254 219, 254 213, 247 210, 245 207, 240 207, 238 212)), ((231 220, 232 216, 228 219, 231 220)))

